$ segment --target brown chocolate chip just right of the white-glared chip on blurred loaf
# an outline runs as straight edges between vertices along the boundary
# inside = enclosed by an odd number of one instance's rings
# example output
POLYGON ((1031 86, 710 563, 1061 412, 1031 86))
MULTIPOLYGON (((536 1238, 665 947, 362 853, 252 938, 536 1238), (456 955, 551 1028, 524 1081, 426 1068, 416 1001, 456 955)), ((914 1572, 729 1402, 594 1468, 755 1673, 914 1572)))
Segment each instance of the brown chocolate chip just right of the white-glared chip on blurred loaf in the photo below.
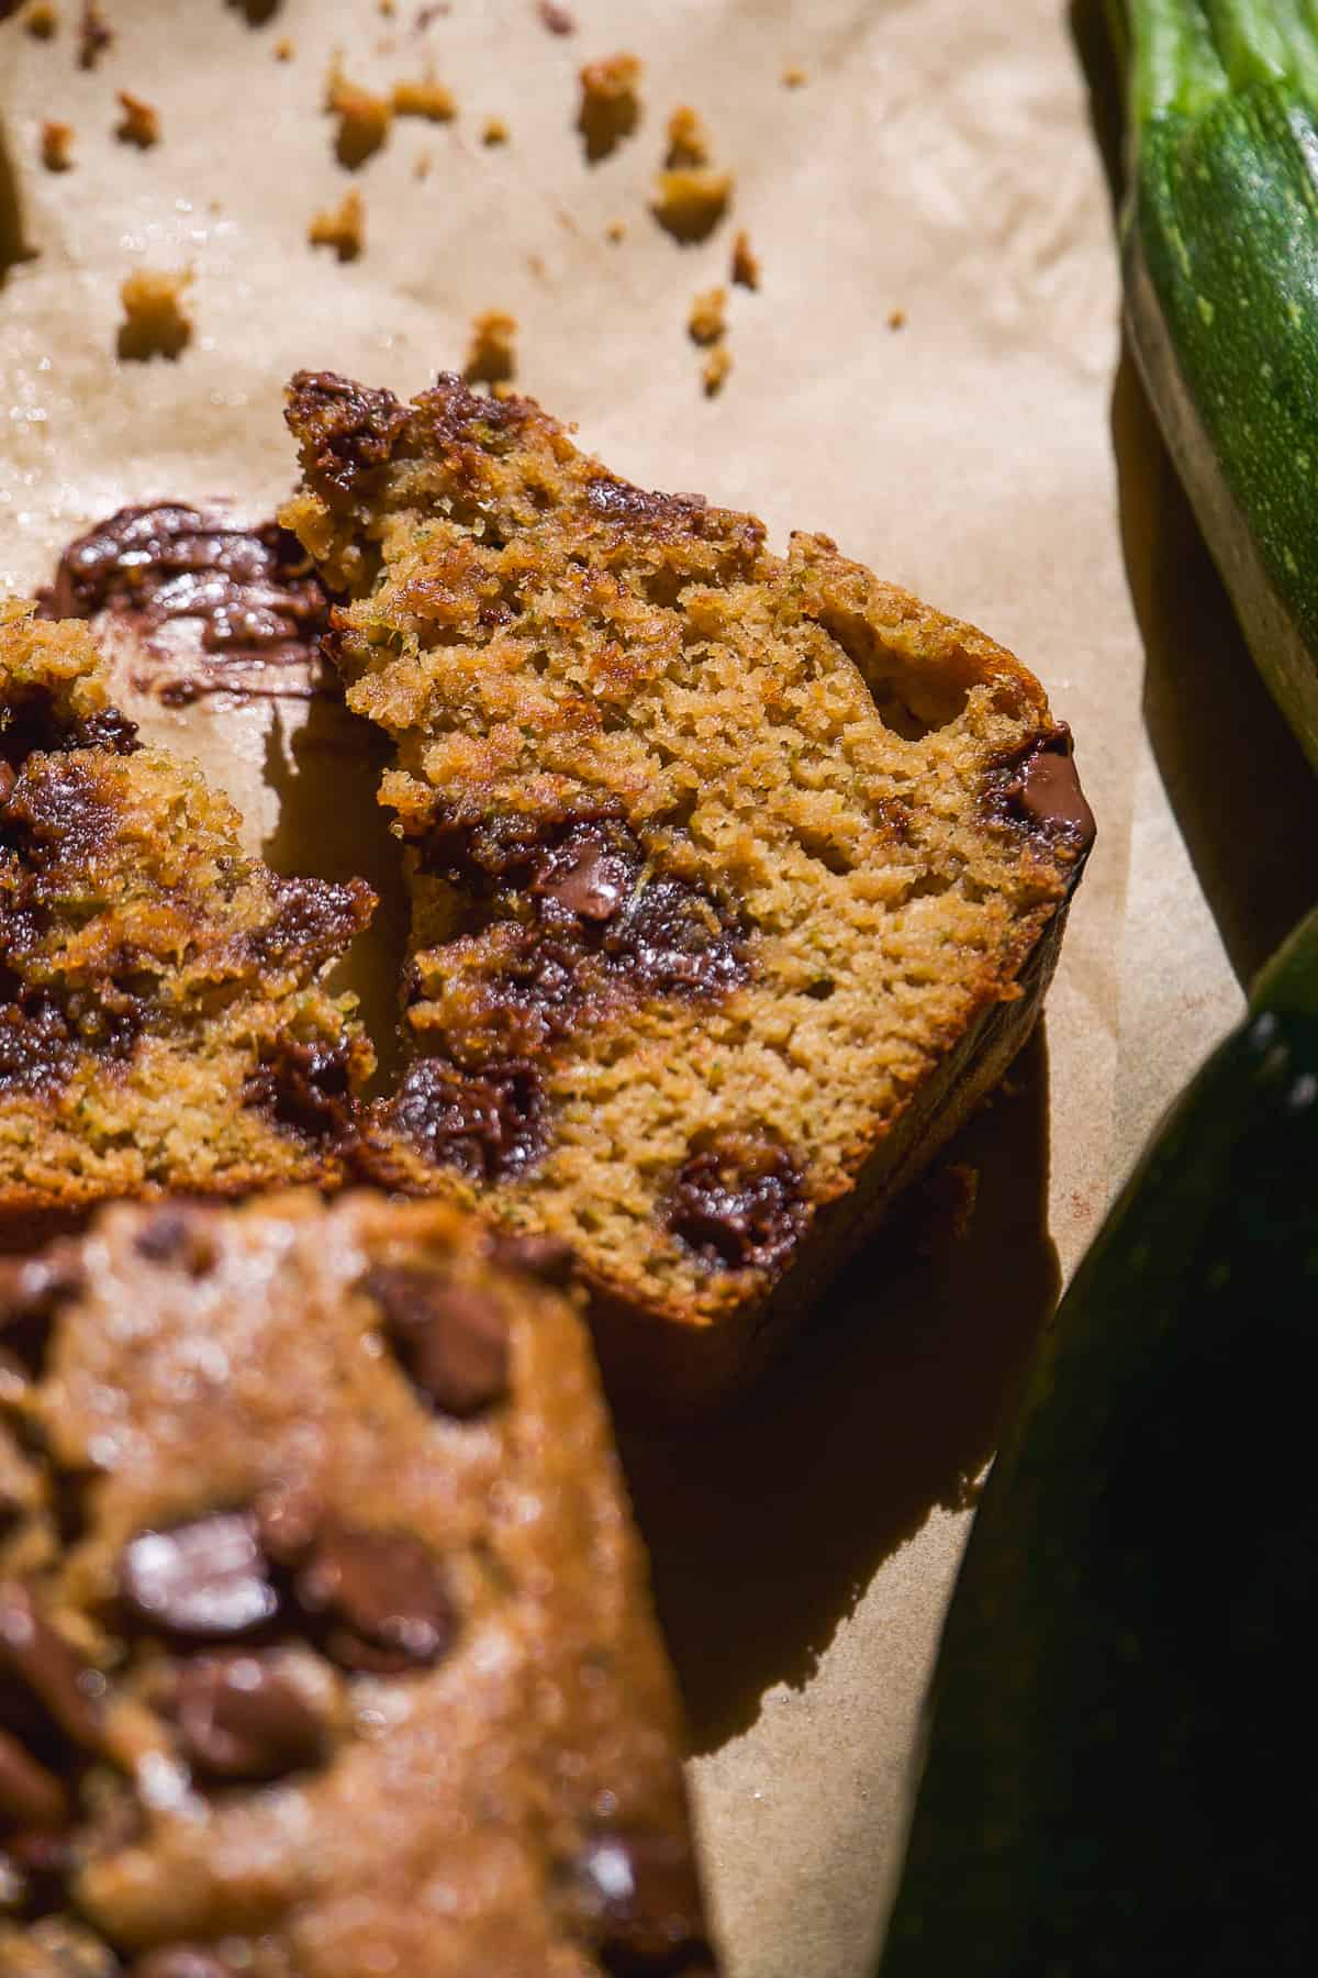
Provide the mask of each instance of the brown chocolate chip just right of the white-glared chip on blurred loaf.
POLYGON ((300 1604, 326 1618, 326 1648, 350 1669, 393 1675, 427 1667, 456 1636, 441 1561, 403 1531, 358 1531, 326 1519, 294 1586, 300 1604))

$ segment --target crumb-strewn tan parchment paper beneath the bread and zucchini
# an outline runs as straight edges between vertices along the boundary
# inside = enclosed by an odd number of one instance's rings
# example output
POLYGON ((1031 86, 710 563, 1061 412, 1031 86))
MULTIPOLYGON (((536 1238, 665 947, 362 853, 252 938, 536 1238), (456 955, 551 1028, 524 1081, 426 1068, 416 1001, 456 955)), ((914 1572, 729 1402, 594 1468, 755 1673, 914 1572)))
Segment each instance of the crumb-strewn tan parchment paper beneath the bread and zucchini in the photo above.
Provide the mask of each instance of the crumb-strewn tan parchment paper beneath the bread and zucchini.
MULTIPOLYGON (((1126 564, 1170 651, 1166 562, 1190 558, 1195 589, 1194 536, 1184 516, 1170 548, 1158 534, 1166 469, 1118 380, 1109 186, 1071 22, 1057 0, 571 0, 565 38, 532 0, 399 0, 393 18, 373 0, 287 0, 261 28, 225 0, 105 12, 117 38, 91 73, 69 0, 49 44, 0 28, 38 249, 0 289, 0 584, 45 580, 121 502, 269 510, 292 475, 279 413, 296 366, 411 392, 460 366, 474 313, 508 309, 518 384, 613 467, 753 506, 779 540, 828 530, 1012 645, 1075 730, 1099 849, 1045 1038, 952 1155, 980 1169, 970 1234, 948 1246, 925 1191, 743 1420, 626 1446, 733 1978, 862 1978, 972 1482, 1134 1141, 1239 1007, 1140 718, 1126 564), (368 85, 433 63, 456 123, 399 121, 346 174, 322 115, 336 45, 368 85), (644 61, 642 123, 587 166, 575 69, 617 49, 644 61), (158 148, 113 140, 121 87, 158 107, 158 148), (680 103, 735 172, 733 214, 698 247, 646 212, 680 103), (490 115, 506 146, 482 144, 490 115), (47 117, 77 133, 61 176, 36 162, 47 117), (350 184, 368 239, 340 265, 306 225, 350 184), (731 289, 733 372, 705 400, 686 315, 727 281, 735 227, 763 285, 731 289), (117 362, 121 279, 182 265, 192 346, 176 364, 117 362)), ((1197 595, 1201 617, 1225 609, 1211 582, 1197 595)), ((1170 663, 1158 678, 1170 706, 1170 663)), ((285 862, 387 866, 368 777, 342 732, 304 730, 306 704, 148 712, 285 862)))

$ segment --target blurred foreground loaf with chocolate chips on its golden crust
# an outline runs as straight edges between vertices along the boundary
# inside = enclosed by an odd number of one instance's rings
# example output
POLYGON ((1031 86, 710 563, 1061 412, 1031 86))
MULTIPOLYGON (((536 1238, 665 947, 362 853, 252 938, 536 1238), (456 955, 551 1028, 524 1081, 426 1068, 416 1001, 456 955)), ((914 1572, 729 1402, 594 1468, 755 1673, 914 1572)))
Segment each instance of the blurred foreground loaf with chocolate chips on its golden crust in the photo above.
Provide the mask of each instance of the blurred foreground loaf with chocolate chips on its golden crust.
POLYGON ((302 1191, 2 1266, 6 1978, 713 1978, 559 1262, 302 1191))

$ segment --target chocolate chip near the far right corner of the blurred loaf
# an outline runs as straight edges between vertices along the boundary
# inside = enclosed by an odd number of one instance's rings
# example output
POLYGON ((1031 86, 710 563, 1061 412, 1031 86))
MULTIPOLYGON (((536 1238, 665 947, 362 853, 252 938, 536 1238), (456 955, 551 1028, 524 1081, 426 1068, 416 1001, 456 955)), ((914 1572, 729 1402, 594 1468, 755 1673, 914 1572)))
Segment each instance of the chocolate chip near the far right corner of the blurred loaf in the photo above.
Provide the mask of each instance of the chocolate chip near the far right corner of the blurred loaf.
POLYGON ((508 1394, 508 1317, 488 1292, 411 1264, 375 1264, 364 1290, 403 1367, 443 1414, 466 1420, 508 1394))

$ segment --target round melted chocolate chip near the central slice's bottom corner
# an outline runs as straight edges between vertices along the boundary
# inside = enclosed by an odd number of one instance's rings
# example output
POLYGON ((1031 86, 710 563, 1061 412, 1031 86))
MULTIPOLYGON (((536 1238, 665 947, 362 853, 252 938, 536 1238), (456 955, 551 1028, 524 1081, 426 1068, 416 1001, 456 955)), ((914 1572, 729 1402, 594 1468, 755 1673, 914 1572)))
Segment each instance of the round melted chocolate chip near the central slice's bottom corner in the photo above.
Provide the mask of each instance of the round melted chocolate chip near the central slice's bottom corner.
POLYGON ((729 1133, 682 1163, 666 1220, 705 1264, 775 1270, 800 1240, 810 1211, 800 1169, 783 1147, 729 1133))

